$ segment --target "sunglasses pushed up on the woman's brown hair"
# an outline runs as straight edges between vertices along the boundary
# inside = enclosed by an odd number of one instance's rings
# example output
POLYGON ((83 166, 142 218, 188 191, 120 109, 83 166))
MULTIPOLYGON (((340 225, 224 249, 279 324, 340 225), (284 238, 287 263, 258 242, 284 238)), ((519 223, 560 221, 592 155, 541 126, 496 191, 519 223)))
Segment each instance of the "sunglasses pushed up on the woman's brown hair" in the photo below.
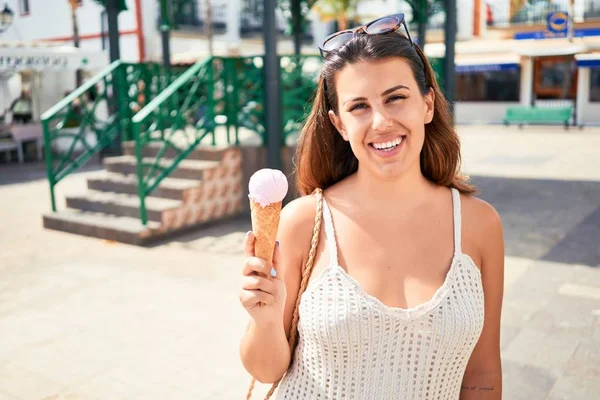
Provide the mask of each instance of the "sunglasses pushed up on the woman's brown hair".
POLYGON ((400 13, 381 17, 368 22, 365 25, 353 29, 346 29, 329 35, 319 46, 321 57, 325 58, 327 53, 334 50, 339 50, 356 35, 386 35, 388 33, 396 32, 402 26, 404 26, 408 40, 410 40, 410 43, 414 46, 415 43, 408 32, 408 26, 406 26, 404 14, 400 13))

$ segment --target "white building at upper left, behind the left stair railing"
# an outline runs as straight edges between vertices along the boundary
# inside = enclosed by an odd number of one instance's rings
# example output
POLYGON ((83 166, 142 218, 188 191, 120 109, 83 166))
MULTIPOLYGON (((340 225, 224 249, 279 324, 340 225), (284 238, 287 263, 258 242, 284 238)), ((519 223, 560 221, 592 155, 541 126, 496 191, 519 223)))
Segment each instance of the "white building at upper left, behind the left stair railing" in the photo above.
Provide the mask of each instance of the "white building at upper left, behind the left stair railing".
MULTIPOLYGON (((107 24, 103 7, 82 0, 76 9, 79 49, 74 48, 73 19, 68 0, 5 0, 14 12, 12 25, 0 34, 0 115, 25 90, 34 98, 34 120, 77 87, 76 69, 86 79, 109 63, 107 24), (64 60, 70 59, 70 62, 64 60), (31 67, 23 64, 30 63, 31 67)), ((144 59, 141 0, 128 1, 119 16, 121 55, 144 59), (141 10, 141 8, 139 8, 141 10)))

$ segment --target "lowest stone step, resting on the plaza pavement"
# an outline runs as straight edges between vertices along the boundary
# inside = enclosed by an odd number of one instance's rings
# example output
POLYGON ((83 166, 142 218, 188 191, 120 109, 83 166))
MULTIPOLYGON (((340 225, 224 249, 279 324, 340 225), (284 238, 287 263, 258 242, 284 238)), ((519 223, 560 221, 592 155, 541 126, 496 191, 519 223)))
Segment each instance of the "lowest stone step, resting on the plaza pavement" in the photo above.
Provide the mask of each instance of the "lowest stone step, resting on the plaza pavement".
POLYGON ((160 224, 142 225, 139 218, 67 209, 43 216, 44 228, 142 245, 159 232, 160 224))

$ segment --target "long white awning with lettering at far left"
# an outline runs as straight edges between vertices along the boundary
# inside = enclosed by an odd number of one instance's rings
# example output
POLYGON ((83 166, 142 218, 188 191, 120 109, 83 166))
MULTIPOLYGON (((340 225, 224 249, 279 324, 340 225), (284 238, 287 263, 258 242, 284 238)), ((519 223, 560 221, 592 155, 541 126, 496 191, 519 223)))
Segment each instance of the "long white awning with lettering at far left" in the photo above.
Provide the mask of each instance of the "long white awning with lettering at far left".
POLYGON ((0 72, 98 69, 108 64, 108 53, 105 51, 0 42, 0 72))

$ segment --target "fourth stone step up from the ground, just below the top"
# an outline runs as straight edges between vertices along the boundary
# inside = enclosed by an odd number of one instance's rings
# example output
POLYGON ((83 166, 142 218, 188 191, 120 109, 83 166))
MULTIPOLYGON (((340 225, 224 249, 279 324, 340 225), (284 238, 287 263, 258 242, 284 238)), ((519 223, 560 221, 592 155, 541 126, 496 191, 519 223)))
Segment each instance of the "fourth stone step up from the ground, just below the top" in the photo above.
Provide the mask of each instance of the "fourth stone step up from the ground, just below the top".
MULTIPOLYGON (((143 158, 144 163, 153 163, 154 161, 154 158, 143 158)), ((171 159, 162 159, 161 165, 166 168, 171 165, 171 162, 171 159)), ((169 177, 205 180, 210 178, 213 171, 219 166, 220 164, 216 161, 183 160, 177 169, 169 174, 169 177)), ((104 159, 104 168, 108 172, 125 175, 136 174, 136 158, 134 156, 109 157, 104 159)), ((145 168, 145 173, 148 172, 148 168, 145 168)))

